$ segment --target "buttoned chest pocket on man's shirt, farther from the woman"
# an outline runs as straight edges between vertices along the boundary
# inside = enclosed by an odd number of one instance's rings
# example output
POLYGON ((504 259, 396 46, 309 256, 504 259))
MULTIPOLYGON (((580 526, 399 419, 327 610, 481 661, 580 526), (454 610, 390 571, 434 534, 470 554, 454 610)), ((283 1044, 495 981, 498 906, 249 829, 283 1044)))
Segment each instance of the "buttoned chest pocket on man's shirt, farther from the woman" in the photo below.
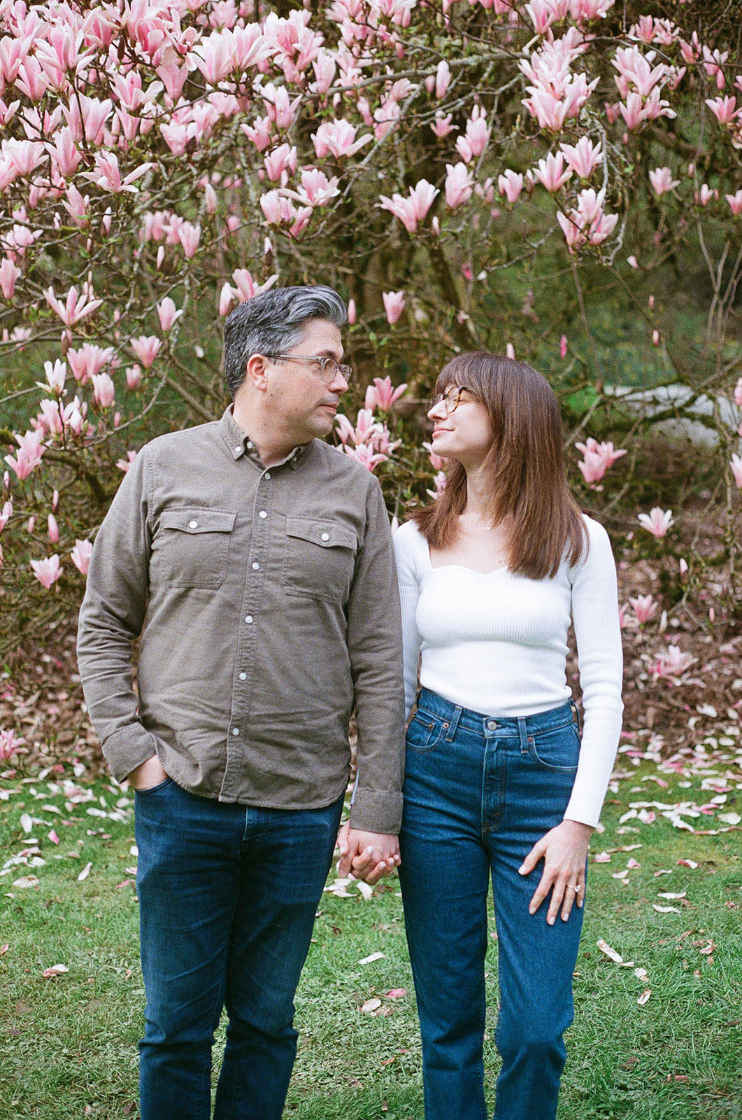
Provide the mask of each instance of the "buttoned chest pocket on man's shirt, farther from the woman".
POLYGON ((154 539, 153 577, 170 587, 216 590, 227 572, 236 516, 229 510, 166 510, 154 539))

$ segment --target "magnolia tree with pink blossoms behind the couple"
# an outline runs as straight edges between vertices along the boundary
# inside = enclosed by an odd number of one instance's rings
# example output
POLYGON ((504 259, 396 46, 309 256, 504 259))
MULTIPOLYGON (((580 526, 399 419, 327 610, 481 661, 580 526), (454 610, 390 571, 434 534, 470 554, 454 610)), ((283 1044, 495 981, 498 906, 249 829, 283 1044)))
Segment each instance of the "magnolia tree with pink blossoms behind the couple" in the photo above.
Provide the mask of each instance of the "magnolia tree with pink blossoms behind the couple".
POLYGON ((348 300, 337 438, 391 513, 445 483, 414 402, 454 353, 507 349, 564 399, 597 502, 642 424, 714 402, 734 561, 742 73, 717 7, 0 0, 4 646, 79 599, 138 447, 220 413, 222 320, 274 283, 348 300), (650 419, 610 384, 620 316, 685 386, 650 419))

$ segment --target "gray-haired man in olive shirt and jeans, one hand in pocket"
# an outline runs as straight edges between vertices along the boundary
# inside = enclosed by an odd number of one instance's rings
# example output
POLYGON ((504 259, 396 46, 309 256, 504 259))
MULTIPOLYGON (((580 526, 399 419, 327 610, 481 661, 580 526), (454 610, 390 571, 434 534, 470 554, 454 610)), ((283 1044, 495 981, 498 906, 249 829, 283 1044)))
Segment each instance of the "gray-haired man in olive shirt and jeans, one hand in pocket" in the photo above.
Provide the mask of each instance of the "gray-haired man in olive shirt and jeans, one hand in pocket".
POLYGON ((142 1120, 279 1120, 293 996, 348 778, 341 874, 398 864, 404 708, 388 516, 321 441, 351 371, 330 288, 229 316, 234 404, 134 459, 97 534, 79 616, 88 711, 135 792, 145 1032, 142 1120), (141 634, 139 699, 132 641, 141 634))

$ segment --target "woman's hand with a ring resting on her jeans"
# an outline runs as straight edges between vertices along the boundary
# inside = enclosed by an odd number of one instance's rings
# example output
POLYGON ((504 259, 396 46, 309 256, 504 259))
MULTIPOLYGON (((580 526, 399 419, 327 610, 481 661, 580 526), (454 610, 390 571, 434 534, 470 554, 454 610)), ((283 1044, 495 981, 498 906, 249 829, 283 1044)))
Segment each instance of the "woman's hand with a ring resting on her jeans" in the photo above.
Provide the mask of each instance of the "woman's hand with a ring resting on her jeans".
POLYGON ((529 914, 536 913, 550 890, 552 900, 546 915, 550 925, 554 925, 560 906, 566 922, 575 899, 577 906, 583 905, 585 860, 592 832, 590 824, 564 820, 534 844, 518 868, 520 875, 528 875, 539 859, 544 860, 544 872, 530 899, 529 914))

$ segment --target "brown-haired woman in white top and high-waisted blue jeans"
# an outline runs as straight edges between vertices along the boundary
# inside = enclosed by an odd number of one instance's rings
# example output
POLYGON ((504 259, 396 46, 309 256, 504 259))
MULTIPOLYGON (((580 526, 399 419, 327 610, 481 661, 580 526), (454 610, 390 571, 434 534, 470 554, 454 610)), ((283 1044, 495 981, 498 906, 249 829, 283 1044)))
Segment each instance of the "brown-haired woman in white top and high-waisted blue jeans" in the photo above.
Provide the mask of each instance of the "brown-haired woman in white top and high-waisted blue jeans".
POLYGON ((426 1120, 485 1120, 487 894, 500 1010, 496 1120, 553 1120, 572 1021, 588 843, 621 726, 616 567, 564 476, 550 385, 462 354, 429 418, 449 463, 395 534, 407 729, 402 896, 426 1120), (565 680, 574 623, 582 746, 565 680), (575 905, 576 903, 576 905, 575 905))

